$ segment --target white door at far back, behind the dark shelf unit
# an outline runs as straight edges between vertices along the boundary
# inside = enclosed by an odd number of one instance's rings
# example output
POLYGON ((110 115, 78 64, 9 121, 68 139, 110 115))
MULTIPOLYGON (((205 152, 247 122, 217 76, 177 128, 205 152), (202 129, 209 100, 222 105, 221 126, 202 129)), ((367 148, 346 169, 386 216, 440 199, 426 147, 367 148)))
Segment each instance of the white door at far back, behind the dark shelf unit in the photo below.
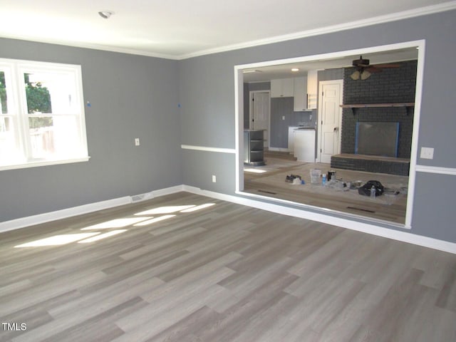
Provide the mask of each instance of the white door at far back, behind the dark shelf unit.
POLYGON ((264 130, 264 147, 269 146, 269 92, 250 92, 251 130, 264 130))

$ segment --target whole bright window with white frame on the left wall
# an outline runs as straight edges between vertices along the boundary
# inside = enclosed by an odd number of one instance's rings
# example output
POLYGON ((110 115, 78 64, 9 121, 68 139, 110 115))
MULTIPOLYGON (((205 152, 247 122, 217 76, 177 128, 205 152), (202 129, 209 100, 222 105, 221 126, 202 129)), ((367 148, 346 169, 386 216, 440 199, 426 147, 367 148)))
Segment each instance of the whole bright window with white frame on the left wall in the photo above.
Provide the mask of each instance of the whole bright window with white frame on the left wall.
POLYGON ((88 160, 81 66, 0 59, 0 170, 88 160))

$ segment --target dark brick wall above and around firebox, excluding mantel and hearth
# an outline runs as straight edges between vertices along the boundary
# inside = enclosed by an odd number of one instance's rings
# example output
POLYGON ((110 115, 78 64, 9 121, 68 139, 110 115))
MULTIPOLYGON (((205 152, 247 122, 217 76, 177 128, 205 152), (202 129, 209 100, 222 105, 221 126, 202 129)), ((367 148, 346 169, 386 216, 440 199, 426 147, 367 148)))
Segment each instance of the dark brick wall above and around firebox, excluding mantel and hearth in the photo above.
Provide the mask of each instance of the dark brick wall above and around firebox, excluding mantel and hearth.
MULTIPOLYGON (((372 73, 367 80, 351 79, 354 68, 346 68, 343 77, 343 103, 410 103, 415 102, 417 61, 400 63, 400 68, 385 68, 372 73)), ((342 153, 355 152, 356 123, 398 122, 398 157, 410 158, 413 107, 408 108, 343 108, 342 153)))

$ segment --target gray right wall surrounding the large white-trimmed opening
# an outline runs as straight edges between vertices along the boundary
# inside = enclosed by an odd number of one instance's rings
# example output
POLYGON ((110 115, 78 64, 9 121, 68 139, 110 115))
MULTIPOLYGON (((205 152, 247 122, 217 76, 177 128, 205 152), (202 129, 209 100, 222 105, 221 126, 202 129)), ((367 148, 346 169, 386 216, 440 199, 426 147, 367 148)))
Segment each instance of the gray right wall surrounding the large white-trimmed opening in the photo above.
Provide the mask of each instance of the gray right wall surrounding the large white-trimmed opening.
MULTIPOLYGON (((433 160, 418 158, 418 164, 456 167, 456 115, 452 95, 454 66, 452 58, 448 58, 456 54, 455 18, 456 11, 448 11, 180 61, 180 95, 185 103, 181 113, 182 128, 185 128, 182 131, 182 142, 190 145, 235 147, 233 68, 236 65, 425 39, 419 146, 435 147, 435 154, 433 160)), ((193 152, 182 153, 185 160, 190 160, 188 155, 193 152)), ((204 165, 200 165, 199 170, 217 172, 219 158, 207 152, 204 165)), ((225 162, 229 162, 229 158, 225 158, 225 162)), ((229 169, 229 172, 224 170, 224 177, 229 179, 228 184, 234 184, 234 161, 232 165, 224 166, 229 169)), ((218 182, 211 183, 210 177, 202 179, 201 172, 195 170, 192 163, 185 163, 186 184, 210 187, 214 191, 234 195, 234 186, 227 189, 218 182), (190 167, 191 172, 188 170, 190 167)), ((420 173, 417 178, 419 182, 416 182, 411 232, 456 242, 454 223, 450 215, 443 214, 450 210, 451 201, 445 195, 446 187, 436 186, 444 185, 449 179, 454 183, 454 177, 420 173), (432 192, 424 191, 430 189, 432 192)), ((359 221, 363 222, 363 219, 359 221)), ((379 225, 397 229, 389 224, 379 225)))

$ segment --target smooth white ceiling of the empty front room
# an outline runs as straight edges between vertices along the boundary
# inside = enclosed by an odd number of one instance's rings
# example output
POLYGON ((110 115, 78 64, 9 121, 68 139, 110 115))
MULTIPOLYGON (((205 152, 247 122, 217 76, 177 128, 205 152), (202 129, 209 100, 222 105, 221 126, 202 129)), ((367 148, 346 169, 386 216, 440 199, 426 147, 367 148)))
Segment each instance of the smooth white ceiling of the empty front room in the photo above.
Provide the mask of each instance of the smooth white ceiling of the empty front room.
POLYGON ((445 0, 0 0, 0 36, 182 59, 455 8, 445 0), (114 14, 102 19, 103 10, 114 14))

